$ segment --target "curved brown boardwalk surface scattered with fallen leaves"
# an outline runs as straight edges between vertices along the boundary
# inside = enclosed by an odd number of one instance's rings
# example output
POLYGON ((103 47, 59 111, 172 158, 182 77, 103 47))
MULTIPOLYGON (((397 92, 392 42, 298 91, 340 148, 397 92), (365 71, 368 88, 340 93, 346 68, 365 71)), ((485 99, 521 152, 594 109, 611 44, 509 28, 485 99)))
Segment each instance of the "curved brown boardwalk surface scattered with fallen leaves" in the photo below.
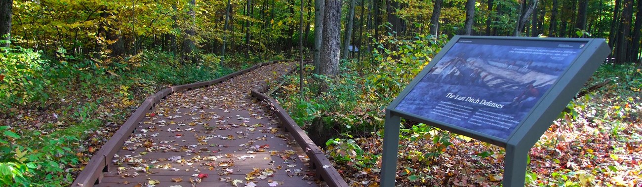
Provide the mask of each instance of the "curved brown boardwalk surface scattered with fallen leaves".
POLYGON ((168 95, 107 158, 95 186, 319 186, 304 151, 250 97, 293 67, 273 63, 168 95))

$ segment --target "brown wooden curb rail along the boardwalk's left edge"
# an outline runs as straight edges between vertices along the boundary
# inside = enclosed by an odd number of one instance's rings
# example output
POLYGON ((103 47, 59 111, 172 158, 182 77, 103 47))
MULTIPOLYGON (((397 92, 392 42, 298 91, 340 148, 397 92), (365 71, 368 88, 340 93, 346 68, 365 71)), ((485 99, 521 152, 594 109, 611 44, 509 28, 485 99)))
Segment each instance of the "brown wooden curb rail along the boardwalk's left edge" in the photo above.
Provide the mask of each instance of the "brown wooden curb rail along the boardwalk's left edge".
MULTIPOLYGON (((134 131, 136 127, 135 125, 139 124, 139 122, 143 120, 143 118, 145 117, 145 113, 153 110, 154 106, 158 104, 160 100, 164 99, 167 95, 170 95, 172 93, 182 92, 184 90, 192 90, 198 87, 221 83, 223 81, 227 81, 228 79, 231 79, 232 77, 257 69, 258 67, 261 67, 264 65, 270 65, 272 63, 277 63, 280 61, 292 61, 292 60, 275 60, 275 61, 259 63, 248 69, 239 70, 232 74, 228 74, 227 76, 223 76, 211 81, 203 81, 203 82, 191 83, 186 85, 171 86, 169 88, 165 88, 164 90, 160 90, 160 92, 154 93, 150 97, 147 97, 147 99, 143 101, 143 104, 141 104, 134 111, 132 116, 130 116, 125 121, 125 123, 116 131, 116 133, 114 133, 114 135, 111 138, 109 138, 107 143, 105 143, 101 147, 101 149, 98 150, 98 152, 96 152, 96 154, 94 154, 94 156, 92 156, 91 159, 89 159, 89 162, 87 163, 87 165, 85 165, 85 167, 80 172, 80 174, 78 174, 78 177, 76 177, 76 179, 71 184, 71 186, 94 186, 94 184, 99 184, 100 181, 103 179, 103 172, 107 171, 107 165, 108 165, 107 159, 112 158, 116 153, 116 151, 118 150, 118 148, 123 146, 123 143, 125 143, 126 138, 129 137, 130 134, 132 134, 132 132, 134 131)), ((336 172, 336 170, 334 170, 334 172, 336 172)))

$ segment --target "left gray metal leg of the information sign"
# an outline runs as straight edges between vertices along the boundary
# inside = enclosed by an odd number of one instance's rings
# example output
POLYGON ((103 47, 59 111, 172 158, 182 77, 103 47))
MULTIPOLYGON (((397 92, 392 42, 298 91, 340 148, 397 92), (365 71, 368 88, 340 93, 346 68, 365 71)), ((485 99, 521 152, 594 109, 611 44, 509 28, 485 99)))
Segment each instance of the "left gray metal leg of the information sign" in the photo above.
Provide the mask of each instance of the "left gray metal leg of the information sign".
POLYGON ((383 130, 383 158, 381 159, 381 183, 379 186, 395 186, 397 175, 397 151, 399 150, 399 124, 401 118, 386 110, 383 130))

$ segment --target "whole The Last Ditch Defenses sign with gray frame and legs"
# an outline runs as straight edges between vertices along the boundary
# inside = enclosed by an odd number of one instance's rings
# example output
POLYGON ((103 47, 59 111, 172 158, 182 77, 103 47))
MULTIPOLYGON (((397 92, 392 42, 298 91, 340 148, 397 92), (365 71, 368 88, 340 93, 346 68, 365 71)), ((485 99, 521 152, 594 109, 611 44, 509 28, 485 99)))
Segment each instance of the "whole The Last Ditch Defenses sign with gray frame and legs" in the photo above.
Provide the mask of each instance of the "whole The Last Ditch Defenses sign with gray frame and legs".
POLYGON ((454 37, 386 108, 381 186, 399 117, 506 147, 504 186, 523 186, 528 150, 609 53, 603 39, 454 37))

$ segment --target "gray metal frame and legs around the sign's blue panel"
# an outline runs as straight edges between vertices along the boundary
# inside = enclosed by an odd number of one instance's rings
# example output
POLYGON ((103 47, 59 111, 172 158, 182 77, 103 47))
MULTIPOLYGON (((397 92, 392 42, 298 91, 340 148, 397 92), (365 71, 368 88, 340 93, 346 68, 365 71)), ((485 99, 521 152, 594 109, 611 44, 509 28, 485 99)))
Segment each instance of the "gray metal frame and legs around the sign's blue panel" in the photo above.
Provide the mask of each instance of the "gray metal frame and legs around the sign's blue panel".
POLYGON ((395 175, 397 170, 397 152, 399 145, 399 129, 401 118, 422 122, 429 126, 445 129, 456 134, 462 134, 480 140, 482 142, 505 147, 505 167, 503 186, 524 186, 526 159, 528 151, 535 145, 546 129, 559 113, 566 107, 569 101, 575 97, 584 83, 591 77, 593 72, 600 67, 602 61, 611 53, 605 40, 602 38, 532 38, 532 37, 476 37, 476 36, 455 36, 438 53, 433 60, 438 62, 449 51, 453 45, 461 39, 492 39, 505 42, 519 41, 550 41, 550 42, 586 42, 586 45, 579 51, 575 60, 571 61, 567 69, 560 74, 557 81, 551 88, 542 94, 535 106, 526 117, 521 120, 512 133, 506 138, 498 138, 488 134, 466 129, 464 127, 446 124, 438 120, 422 117, 406 111, 395 109, 397 105, 421 82, 421 79, 435 67, 437 63, 429 63, 419 72, 410 85, 399 93, 399 96, 386 108, 384 138, 383 138, 383 160, 381 166, 381 186, 395 186, 395 175))

